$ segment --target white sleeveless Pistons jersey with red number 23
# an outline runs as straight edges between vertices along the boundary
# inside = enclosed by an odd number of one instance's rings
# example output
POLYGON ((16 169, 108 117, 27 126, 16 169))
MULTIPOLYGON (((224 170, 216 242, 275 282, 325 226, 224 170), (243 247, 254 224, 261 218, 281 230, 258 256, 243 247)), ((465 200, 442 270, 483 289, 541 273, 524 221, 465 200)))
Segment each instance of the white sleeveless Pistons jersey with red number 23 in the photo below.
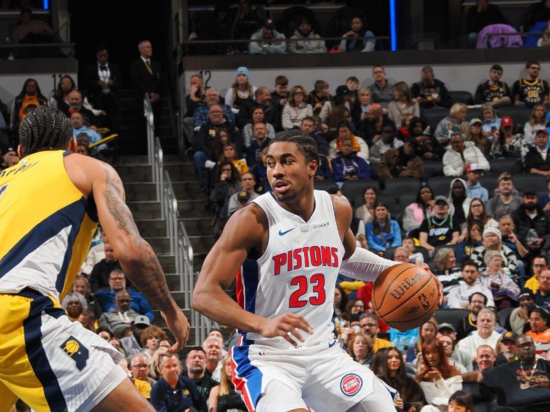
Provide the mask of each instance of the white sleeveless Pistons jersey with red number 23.
MULTIPOLYGON (((302 332, 304 346, 333 336, 334 287, 344 257, 331 196, 318 190, 314 196, 314 213, 307 222, 283 209, 270 193, 254 199, 267 216, 267 247, 261 258, 243 264, 236 279, 237 301, 248 312, 268 319, 285 313, 307 319, 314 334, 302 332)), ((249 343, 288 347, 280 337, 239 332, 249 343)))

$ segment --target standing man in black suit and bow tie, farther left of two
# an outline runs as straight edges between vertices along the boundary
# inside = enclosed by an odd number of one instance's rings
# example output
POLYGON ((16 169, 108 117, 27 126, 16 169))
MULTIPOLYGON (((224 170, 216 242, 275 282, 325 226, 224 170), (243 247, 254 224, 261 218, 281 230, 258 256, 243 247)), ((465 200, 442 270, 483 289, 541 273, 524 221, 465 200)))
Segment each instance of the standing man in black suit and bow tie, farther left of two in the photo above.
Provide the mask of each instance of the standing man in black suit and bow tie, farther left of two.
POLYGON ((98 46, 96 62, 85 66, 84 83, 94 107, 107 112, 105 126, 114 130, 118 111, 115 92, 122 84, 122 76, 118 65, 109 62, 109 51, 104 45, 98 46))

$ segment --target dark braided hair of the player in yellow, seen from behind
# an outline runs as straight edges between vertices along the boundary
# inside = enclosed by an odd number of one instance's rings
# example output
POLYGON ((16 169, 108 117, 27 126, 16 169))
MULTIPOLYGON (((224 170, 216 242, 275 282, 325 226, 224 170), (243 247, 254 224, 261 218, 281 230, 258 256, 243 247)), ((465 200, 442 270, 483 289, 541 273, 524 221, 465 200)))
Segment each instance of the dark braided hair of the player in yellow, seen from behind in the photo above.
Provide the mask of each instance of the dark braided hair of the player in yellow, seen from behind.
POLYGON ((19 125, 19 143, 23 157, 42 150, 59 150, 72 139, 69 119, 56 108, 39 106, 19 125))

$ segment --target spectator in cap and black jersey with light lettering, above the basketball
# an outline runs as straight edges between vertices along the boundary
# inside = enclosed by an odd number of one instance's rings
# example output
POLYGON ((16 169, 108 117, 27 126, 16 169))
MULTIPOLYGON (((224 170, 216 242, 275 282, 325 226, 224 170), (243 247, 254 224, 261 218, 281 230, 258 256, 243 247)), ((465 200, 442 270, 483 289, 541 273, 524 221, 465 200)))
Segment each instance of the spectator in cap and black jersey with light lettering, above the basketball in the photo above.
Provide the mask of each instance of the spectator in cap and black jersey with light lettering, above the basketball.
POLYGON ((419 229, 420 246, 432 252, 443 244, 456 244, 459 227, 449 214, 449 203, 445 196, 437 196, 434 202, 434 216, 426 218, 419 229))

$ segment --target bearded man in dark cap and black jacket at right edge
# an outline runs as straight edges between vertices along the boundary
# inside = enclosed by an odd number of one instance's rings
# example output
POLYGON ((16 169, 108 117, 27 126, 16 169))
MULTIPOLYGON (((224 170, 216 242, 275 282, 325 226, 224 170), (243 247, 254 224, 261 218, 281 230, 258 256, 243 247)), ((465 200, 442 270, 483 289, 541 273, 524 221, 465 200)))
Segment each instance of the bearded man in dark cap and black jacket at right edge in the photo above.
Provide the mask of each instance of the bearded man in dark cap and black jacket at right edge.
POLYGON ((535 190, 523 191, 523 204, 511 215, 518 238, 532 255, 546 254, 550 248, 550 220, 538 204, 535 190))

